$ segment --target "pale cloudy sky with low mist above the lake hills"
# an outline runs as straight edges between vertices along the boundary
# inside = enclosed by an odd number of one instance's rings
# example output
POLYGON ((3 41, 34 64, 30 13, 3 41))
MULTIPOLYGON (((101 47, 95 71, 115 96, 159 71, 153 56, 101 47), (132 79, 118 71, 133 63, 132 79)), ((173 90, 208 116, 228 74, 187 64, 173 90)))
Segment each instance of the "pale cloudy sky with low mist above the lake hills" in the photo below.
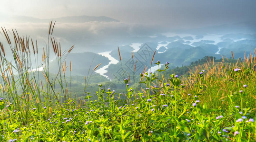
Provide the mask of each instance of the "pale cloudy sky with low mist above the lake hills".
MULTIPOLYGON (((117 19, 119 22, 57 21, 56 36, 60 42, 93 51, 138 43, 134 36, 255 21, 255 13, 256 0, 1 0, 0 26, 15 28, 21 34, 45 42, 49 22, 19 22, 16 17, 9 21, 10 17, 26 16, 50 21, 87 15, 117 19)), ((256 32, 250 28, 246 27, 246 30, 256 32)))

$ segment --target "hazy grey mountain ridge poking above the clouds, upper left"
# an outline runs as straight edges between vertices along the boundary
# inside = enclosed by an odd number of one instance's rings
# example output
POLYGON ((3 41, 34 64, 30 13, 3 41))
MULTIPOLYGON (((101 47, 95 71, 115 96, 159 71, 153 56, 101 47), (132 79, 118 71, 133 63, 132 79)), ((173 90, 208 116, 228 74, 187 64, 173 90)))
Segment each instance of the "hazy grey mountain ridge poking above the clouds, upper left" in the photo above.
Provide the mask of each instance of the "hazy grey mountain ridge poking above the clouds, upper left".
POLYGON ((13 22, 13 23, 49 23, 51 20, 56 20, 61 23, 85 23, 85 22, 119 22, 117 19, 109 18, 106 16, 68 16, 68 17, 59 17, 59 18, 49 18, 49 19, 40 19, 40 18, 33 18, 27 16, 13 16, 11 18, 1 18, 0 22, 13 22))

